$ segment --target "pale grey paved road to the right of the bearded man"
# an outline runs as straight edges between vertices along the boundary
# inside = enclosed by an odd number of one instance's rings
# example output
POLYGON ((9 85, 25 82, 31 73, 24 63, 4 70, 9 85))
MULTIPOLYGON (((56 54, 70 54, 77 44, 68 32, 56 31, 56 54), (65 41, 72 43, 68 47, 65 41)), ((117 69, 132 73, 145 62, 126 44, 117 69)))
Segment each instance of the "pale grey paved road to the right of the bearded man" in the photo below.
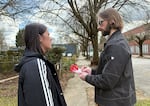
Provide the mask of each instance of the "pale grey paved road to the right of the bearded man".
POLYGON ((135 86, 150 97, 150 59, 132 58, 135 86))

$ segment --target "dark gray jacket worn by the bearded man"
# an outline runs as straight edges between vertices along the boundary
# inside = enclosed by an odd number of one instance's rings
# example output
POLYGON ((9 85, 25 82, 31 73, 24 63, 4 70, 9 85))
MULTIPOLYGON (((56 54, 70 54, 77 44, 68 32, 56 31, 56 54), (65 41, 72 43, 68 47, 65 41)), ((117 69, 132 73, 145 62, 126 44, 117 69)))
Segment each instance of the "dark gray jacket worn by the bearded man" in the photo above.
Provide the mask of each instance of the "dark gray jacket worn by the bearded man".
POLYGON ((132 106, 136 103, 131 52, 120 31, 107 40, 98 68, 86 76, 95 86, 95 102, 102 106, 132 106))

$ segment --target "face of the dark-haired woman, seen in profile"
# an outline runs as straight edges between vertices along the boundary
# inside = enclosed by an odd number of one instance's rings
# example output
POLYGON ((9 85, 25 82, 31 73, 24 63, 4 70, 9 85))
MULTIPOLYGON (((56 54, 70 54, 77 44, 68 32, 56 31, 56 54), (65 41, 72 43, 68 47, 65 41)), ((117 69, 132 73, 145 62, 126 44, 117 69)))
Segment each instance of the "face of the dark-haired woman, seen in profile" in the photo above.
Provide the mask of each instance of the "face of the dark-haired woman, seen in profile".
POLYGON ((39 36, 40 46, 43 52, 47 52, 52 47, 52 38, 49 36, 48 30, 39 36))

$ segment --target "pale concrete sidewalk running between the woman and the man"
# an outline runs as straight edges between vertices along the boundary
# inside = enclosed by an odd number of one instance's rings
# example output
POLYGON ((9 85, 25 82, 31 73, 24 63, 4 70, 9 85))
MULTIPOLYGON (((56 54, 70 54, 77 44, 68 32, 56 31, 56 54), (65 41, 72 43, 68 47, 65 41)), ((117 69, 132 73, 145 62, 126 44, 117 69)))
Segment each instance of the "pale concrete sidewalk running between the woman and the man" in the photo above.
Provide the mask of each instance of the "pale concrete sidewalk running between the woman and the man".
MULTIPOLYGON (((79 67, 83 65, 87 66, 90 64, 90 61, 85 60, 83 56, 79 56, 76 64, 79 67)), ((94 106, 94 97, 90 97, 93 100, 89 101, 88 99, 89 90, 91 92, 94 92, 93 87, 82 81, 76 74, 74 78, 71 78, 68 81, 67 87, 64 92, 67 106, 94 106)))

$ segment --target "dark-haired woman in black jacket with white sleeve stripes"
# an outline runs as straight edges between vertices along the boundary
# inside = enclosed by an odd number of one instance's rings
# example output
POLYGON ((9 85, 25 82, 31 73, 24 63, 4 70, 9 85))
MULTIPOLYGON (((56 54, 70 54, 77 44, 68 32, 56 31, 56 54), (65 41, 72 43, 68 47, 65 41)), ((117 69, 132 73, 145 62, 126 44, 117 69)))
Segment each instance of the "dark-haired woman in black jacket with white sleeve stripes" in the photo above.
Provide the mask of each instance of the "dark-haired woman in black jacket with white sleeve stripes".
POLYGON ((45 58, 51 37, 43 24, 24 31, 25 51, 15 67, 19 72, 18 106, 67 106, 54 65, 45 58))

